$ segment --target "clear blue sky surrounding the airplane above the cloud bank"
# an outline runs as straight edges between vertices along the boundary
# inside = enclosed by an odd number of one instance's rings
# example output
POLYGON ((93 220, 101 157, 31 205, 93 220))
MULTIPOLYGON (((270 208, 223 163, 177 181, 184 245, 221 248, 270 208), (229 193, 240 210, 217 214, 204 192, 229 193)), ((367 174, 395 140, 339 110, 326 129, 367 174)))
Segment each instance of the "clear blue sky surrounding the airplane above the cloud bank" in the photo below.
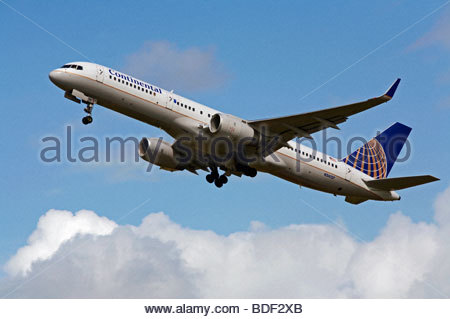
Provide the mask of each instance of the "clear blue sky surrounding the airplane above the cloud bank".
MULTIPOLYGON (((133 225, 149 213, 164 212, 184 227, 224 235, 247 230, 255 220, 271 228, 332 220, 371 240, 397 211, 414 222, 432 221, 436 194, 448 187, 450 41, 445 35, 450 25, 445 21, 450 20, 450 6, 423 19, 445 1, 8 3, 76 51, 0 3, 5 111, 0 128, 1 264, 25 244, 39 217, 52 208, 89 209, 133 225), (152 74, 144 80, 173 81, 177 86, 164 88, 246 119, 367 99, 384 93, 401 77, 394 100, 328 133, 344 140, 355 135, 370 138, 400 121, 413 128, 412 155, 394 166, 390 176, 432 174, 441 181, 401 191, 399 202, 352 206, 343 198, 299 189, 265 174, 253 180, 232 177, 216 189, 205 182, 204 174, 157 169, 147 174, 142 163, 42 163, 41 138, 63 137, 66 125, 72 125, 75 141, 83 136, 167 136, 98 106, 93 124, 85 127, 82 107, 64 99, 48 80, 52 69, 86 57, 126 70, 132 67, 133 55, 155 43, 165 43, 181 56, 197 50, 210 57, 200 75, 214 77, 217 85, 193 89, 177 78, 152 74)), ((75 143, 74 149, 80 145, 75 143)))

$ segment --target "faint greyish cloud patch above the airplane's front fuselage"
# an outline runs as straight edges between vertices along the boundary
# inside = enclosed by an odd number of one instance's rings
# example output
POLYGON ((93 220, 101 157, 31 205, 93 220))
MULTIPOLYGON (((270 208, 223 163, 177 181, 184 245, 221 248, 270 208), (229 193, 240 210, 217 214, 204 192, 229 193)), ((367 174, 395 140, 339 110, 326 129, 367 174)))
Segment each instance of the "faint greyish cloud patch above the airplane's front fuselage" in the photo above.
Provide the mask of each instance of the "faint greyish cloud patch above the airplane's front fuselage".
POLYGON ((183 50, 166 41, 146 43, 126 58, 124 70, 169 90, 216 89, 228 78, 212 48, 183 50))

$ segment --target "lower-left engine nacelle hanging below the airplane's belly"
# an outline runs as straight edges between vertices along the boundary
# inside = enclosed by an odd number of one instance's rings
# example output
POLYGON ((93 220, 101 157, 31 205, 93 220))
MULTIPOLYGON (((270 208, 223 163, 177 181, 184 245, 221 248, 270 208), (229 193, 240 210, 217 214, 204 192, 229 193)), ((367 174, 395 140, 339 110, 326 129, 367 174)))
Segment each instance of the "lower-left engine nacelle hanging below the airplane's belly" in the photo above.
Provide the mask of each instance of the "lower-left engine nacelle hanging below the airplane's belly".
POLYGON ((161 138, 144 137, 139 142, 139 156, 168 171, 179 170, 172 145, 161 138))

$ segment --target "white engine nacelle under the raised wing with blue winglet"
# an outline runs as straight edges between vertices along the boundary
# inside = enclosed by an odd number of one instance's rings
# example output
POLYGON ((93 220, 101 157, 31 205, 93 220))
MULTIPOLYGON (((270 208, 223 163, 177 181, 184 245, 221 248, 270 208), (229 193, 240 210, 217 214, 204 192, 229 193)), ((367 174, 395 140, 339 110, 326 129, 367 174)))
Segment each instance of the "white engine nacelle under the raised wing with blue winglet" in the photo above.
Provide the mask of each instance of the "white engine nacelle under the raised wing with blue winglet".
POLYGON ((255 137, 255 130, 242 119, 230 114, 216 113, 211 117, 209 131, 234 141, 255 137))

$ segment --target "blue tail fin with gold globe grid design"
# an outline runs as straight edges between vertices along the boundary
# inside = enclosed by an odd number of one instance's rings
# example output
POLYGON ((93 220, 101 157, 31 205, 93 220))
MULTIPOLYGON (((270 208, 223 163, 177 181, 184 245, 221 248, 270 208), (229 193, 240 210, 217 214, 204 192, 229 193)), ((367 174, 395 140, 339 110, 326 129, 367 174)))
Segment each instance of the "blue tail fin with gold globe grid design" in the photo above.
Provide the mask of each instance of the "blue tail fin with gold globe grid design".
POLYGON ((410 132, 410 127, 397 122, 342 161, 375 179, 386 178, 410 132))

